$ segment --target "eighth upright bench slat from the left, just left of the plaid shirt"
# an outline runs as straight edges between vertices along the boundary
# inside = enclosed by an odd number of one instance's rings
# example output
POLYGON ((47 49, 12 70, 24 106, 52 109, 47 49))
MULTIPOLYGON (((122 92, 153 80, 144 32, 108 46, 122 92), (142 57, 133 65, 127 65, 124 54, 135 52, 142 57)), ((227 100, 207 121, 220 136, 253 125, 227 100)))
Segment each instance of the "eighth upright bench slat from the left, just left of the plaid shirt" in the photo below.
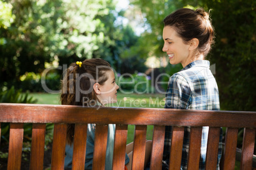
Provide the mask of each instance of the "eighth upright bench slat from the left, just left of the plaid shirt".
POLYGON ((153 127, 153 147, 150 158, 150 169, 162 169, 162 153, 164 152, 165 126, 153 127))

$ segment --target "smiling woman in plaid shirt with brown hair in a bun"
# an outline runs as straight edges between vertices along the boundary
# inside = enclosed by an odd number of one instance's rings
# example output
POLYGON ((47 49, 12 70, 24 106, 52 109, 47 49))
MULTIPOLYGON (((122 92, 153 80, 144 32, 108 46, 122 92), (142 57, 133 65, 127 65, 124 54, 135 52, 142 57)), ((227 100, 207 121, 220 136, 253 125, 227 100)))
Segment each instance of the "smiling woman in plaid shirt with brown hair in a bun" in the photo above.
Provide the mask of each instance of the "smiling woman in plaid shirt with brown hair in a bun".
MULTIPOLYGON (((214 31, 208 13, 182 8, 164 19, 164 47, 171 64, 181 63, 183 69, 173 74, 168 82, 165 108, 219 110, 218 86, 204 60, 213 44, 214 31)), ((203 127, 199 169, 205 168, 208 127, 203 127)), ((185 127, 181 169, 187 169, 190 127, 185 127)), ((171 126, 166 126, 163 169, 169 166, 171 126)), ((222 129, 218 150, 217 169, 222 152, 222 129)))

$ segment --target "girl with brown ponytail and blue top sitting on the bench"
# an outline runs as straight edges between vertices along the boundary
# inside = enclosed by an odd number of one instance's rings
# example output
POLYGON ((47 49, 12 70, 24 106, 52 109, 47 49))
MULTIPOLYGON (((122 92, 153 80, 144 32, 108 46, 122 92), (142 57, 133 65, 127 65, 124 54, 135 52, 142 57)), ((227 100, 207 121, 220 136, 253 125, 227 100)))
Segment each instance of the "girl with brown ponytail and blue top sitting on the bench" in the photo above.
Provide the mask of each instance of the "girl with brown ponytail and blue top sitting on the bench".
MULTIPOLYGON (((93 58, 83 62, 72 63, 62 81, 60 100, 62 105, 104 106, 117 102, 118 85, 111 65, 103 59, 93 58)), ((73 136, 75 124, 68 124, 65 169, 71 169, 73 157, 73 136)), ((94 153, 95 124, 88 124, 85 169, 92 169, 94 153)), ((108 124, 108 141, 105 169, 112 169, 115 124, 108 124)), ((132 158, 133 143, 126 148, 132 158)), ((148 148, 148 147, 147 147, 148 148)), ((147 152, 150 155, 150 152, 147 152)), ((125 167, 131 169, 129 157, 125 154, 125 167)), ((146 156, 146 159, 149 159, 146 156)))

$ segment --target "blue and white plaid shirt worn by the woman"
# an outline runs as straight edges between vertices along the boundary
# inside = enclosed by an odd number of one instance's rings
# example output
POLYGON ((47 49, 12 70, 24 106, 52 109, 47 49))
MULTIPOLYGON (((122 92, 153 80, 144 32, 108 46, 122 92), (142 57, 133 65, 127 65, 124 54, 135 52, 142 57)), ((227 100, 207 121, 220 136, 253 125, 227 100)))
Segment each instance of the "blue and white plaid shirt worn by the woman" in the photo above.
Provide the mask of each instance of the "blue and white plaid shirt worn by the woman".
MULTIPOLYGON (((220 110, 218 86, 210 71, 210 62, 197 60, 188 64, 180 72, 173 74, 168 82, 165 108, 180 108, 192 110, 220 110)), ((201 140, 201 155, 199 169, 204 169, 209 127, 203 127, 201 140)), ((185 127, 181 169, 187 169, 190 127, 185 127)), ((166 126, 164 139, 164 164, 169 164, 169 151, 171 146, 171 126, 166 126)), ((222 128, 218 147, 219 169, 222 154, 222 128)))

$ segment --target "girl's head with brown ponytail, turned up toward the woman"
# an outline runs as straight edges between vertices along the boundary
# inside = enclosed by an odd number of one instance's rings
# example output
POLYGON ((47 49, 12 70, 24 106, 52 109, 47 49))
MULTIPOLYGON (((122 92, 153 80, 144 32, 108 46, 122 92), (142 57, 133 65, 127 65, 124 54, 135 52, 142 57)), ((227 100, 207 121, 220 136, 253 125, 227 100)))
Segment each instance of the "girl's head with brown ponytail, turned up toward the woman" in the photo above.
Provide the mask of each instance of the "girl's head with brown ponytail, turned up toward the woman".
POLYGON ((118 86, 111 65, 103 59, 92 58, 71 63, 62 81, 62 105, 93 106, 97 102, 116 102, 118 86))

